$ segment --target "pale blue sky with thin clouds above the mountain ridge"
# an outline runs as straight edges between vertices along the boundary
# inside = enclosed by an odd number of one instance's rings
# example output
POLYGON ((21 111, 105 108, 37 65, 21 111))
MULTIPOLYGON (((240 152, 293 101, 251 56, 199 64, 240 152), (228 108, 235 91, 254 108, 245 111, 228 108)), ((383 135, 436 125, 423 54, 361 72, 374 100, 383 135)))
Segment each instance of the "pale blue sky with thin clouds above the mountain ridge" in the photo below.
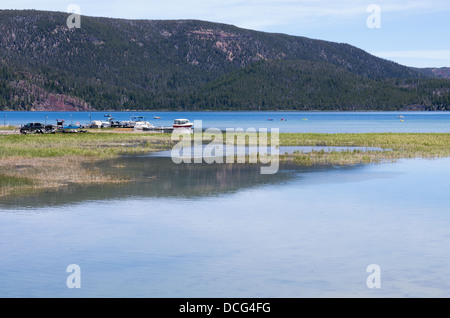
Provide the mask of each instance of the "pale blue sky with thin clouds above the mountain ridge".
POLYGON ((0 8, 65 12, 70 4, 88 16, 222 22, 349 43, 407 66, 450 67, 449 0, 2 0, 0 8), (380 28, 367 25, 372 4, 380 28))

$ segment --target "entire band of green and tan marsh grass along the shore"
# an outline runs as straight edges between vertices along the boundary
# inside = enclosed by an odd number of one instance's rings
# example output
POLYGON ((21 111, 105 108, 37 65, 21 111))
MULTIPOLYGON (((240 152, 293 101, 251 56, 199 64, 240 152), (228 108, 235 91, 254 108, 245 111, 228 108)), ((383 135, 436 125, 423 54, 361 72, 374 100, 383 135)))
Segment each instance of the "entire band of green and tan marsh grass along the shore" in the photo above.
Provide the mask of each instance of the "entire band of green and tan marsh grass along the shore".
MULTIPOLYGON (((355 165, 408 158, 450 157, 450 133, 280 133, 280 146, 358 146, 389 151, 280 153, 280 163, 299 166, 355 165)), ((21 135, 0 131, 0 198, 69 184, 123 183, 95 165, 123 154, 170 150, 171 134, 89 130, 88 133, 21 135)))

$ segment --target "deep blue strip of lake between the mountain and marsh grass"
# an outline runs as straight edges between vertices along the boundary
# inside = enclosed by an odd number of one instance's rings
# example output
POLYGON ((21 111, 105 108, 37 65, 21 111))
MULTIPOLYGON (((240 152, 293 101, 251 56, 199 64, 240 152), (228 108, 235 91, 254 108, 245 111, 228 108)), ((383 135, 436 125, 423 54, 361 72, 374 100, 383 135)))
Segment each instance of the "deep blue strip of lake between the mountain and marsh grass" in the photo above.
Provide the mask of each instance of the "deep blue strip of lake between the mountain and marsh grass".
POLYGON ((202 120, 203 128, 279 128, 280 132, 450 132, 450 112, 0 112, 0 123, 28 122, 88 124, 144 116, 154 126, 172 126, 176 118, 202 120), (403 116, 403 121, 399 116, 403 116), (154 119, 161 117, 161 119, 154 119), (271 120, 270 120, 271 119, 271 120), (282 120, 284 119, 284 120, 282 120))

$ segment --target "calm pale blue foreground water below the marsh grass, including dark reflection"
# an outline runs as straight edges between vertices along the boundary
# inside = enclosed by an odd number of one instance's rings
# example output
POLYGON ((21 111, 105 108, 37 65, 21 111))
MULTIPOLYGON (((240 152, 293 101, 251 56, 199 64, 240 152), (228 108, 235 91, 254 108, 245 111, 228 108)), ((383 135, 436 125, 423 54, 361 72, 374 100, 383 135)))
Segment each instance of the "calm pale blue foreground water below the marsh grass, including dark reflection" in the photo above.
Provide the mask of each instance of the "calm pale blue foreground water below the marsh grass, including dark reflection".
POLYGON ((450 296, 450 159, 100 169, 134 182, 1 201, 0 297, 450 296))

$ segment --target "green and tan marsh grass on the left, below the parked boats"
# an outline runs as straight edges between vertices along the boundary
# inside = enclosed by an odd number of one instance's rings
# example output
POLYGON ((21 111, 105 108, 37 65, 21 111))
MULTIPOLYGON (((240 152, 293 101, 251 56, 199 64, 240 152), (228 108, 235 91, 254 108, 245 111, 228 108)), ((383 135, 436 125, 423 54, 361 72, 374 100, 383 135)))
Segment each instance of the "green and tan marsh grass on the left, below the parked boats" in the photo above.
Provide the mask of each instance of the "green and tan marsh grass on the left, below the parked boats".
POLYGON ((128 182, 124 177, 101 174, 95 163, 171 145, 169 134, 0 135, 0 197, 72 183, 128 182))

